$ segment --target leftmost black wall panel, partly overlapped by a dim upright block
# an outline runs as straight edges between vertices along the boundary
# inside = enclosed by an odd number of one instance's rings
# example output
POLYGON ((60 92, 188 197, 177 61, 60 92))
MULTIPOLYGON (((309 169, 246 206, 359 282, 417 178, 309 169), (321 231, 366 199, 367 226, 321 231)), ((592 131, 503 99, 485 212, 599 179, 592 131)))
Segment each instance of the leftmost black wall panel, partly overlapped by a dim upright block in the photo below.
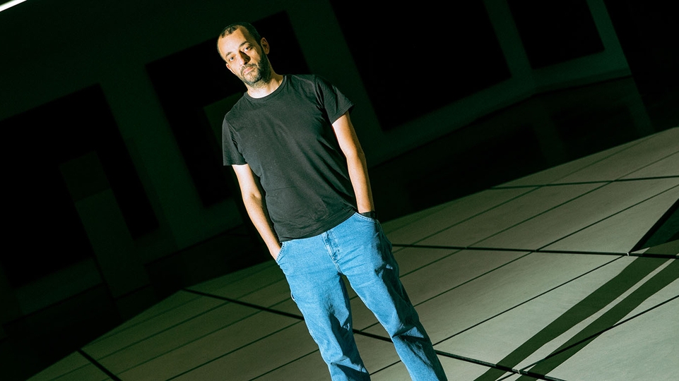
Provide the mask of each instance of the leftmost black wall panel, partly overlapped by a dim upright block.
POLYGON ((111 188, 133 238, 158 227, 99 85, 0 121, 0 128, 8 174, 6 246, 15 248, 3 250, 0 260, 14 286, 93 255, 74 197, 111 188), (85 163, 68 179, 76 194, 59 168, 74 160, 85 163), (93 162, 105 179, 86 164, 93 162))

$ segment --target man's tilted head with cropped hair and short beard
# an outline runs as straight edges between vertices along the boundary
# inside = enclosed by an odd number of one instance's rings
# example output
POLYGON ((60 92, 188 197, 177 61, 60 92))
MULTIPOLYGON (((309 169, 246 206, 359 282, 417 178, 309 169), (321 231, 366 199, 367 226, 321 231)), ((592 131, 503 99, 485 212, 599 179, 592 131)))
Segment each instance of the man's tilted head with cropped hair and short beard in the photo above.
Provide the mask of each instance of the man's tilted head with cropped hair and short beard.
POLYGON ((220 38, 217 44, 226 67, 250 87, 257 87, 258 83, 263 84, 271 79, 266 39, 261 39, 261 44, 262 47, 244 28, 220 38))

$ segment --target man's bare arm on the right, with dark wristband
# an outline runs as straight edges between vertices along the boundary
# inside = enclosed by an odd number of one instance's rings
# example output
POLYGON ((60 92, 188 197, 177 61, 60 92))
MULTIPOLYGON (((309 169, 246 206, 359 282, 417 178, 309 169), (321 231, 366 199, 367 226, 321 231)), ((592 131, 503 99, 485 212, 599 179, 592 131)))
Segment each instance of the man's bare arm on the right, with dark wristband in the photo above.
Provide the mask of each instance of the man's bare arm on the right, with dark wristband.
POLYGON ((358 141, 356 131, 349 119, 349 113, 346 112, 343 116, 340 116, 332 126, 340 148, 347 159, 349 179, 356 195, 358 212, 370 212, 374 210, 374 204, 372 202, 372 188, 370 188, 367 162, 365 161, 365 153, 358 141))

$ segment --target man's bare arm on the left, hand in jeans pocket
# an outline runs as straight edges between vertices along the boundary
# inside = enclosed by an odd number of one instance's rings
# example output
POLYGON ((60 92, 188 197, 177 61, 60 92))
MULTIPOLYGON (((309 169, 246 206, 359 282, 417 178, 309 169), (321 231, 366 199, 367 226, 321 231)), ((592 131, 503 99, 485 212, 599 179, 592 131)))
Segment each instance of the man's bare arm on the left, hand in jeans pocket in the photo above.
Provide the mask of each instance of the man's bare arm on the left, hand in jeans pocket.
POLYGON ((268 217, 268 210, 264 201, 264 191, 259 183, 259 178, 252 172, 248 164, 233 165, 232 167, 238 179, 245 210, 247 210, 247 214, 250 220, 252 220, 255 229, 257 229, 259 235, 264 240, 269 253, 276 259, 278 252, 281 250, 281 243, 278 242, 278 236, 276 236, 276 232, 273 230, 273 223, 271 223, 271 219, 268 217))

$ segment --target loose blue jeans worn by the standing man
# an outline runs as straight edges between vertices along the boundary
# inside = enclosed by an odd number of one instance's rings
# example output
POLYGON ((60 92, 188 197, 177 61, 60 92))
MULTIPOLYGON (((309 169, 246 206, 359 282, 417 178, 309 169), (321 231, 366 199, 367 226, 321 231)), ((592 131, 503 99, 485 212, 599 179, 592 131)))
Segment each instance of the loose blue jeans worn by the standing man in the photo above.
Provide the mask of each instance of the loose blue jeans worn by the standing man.
POLYGON ((355 213, 318 236, 285 241, 276 262, 332 380, 370 380, 354 341, 341 274, 389 333, 411 378, 447 380, 376 219, 355 213))

